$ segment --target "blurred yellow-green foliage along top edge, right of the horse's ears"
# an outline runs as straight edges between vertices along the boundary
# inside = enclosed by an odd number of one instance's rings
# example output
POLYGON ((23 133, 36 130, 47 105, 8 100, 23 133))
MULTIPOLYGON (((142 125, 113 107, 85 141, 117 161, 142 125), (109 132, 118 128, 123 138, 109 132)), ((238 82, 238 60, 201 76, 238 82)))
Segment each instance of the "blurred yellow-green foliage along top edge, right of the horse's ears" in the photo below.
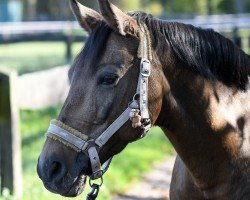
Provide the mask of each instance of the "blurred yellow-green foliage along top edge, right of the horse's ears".
POLYGON ((143 10, 155 16, 183 16, 235 13, 236 5, 242 4, 244 12, 250 12, 248 0, 113 0, 113 3, 125 10, 143 10))

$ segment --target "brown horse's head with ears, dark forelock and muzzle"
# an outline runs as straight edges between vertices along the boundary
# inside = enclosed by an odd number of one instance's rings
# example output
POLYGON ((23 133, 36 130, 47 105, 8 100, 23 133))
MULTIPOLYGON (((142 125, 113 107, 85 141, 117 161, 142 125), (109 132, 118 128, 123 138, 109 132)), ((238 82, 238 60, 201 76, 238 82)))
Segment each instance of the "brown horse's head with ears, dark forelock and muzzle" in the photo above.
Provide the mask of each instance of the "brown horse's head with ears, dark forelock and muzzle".
MULTIPOLYGON (((121 124, 105 144, 90 148, 96 145, 90 144, 95 143, 137 98, 141 65, 141 58, 138 57, 140 26, 131 15, 108 0, 99 1, 101 14, 75 0, 71 0, 70 4, 89 38, 69 70, 70 91, 57 120, 52 122, 48 131, 65 131, 69 135, 66 138, 47 135, 37 167, 45 187, 64 196, 81 193, 85 176, 91 176, 93 168, 98 171, 98 165, 143 134, 141 126, 132 127, 131 121, 124 121, 124 125, 121 124), (85 153, 65 141, 70 137, 74 139, 74 136, 88 144, 85 153)), ((160 113, 163 91, 157 60, 154 61, 148 86, 148 120, 152 124, 160 113)))

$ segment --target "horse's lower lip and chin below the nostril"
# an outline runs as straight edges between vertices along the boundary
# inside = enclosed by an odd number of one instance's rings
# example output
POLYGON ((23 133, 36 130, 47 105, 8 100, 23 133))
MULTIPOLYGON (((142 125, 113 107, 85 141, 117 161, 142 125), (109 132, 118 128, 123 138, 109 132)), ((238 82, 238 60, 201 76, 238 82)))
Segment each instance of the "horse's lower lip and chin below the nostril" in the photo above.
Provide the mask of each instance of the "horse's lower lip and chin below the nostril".
POLYGON ((76 197, 83 192, 86 185, 86 180, 87 177, 85 175, 79 175, 76 181, 68 188, 58 187, 55 184, 48 182, 44 183, 44 187, 50 192, 60 194, 64 197, 76 197))

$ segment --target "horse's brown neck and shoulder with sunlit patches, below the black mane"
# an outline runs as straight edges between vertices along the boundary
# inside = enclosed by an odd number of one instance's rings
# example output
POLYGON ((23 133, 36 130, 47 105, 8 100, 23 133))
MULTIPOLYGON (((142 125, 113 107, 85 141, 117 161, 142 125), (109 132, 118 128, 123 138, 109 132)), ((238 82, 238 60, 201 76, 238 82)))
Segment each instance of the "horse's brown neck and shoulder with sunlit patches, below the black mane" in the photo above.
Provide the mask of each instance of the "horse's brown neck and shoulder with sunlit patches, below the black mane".
POLYGON ((249 92, 181 76, 157 121, 178 153, 171 199, 248 199, 249 92))

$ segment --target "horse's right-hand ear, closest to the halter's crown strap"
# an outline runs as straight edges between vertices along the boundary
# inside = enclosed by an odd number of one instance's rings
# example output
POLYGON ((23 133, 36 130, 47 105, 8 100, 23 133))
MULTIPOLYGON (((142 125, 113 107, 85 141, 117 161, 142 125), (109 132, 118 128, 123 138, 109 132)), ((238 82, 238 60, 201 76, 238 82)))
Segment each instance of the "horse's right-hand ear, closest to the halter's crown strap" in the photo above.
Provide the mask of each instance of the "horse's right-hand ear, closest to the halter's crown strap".
POLYGON ((127 15, 109 0, 98 0, 100 11, 106 23, 121 35, 132 35, 138 37, 139 28, 135 19, 127 15))

